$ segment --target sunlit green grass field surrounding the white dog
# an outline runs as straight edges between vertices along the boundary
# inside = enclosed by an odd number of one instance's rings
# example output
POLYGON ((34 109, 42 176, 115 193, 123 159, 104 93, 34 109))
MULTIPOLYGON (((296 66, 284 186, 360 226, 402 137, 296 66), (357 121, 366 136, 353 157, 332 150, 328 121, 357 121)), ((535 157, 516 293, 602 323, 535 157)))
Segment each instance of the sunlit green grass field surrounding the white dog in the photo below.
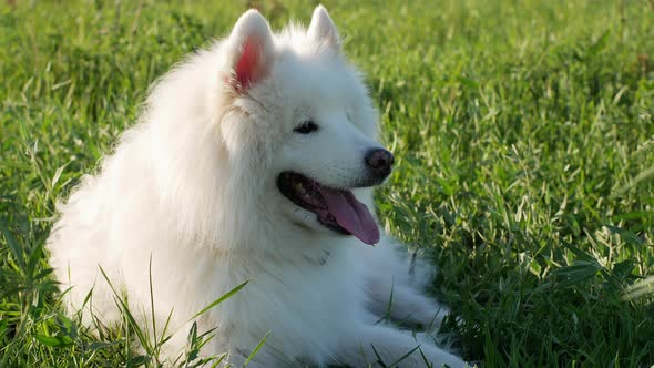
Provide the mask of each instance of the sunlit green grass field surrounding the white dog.
MULTIPOLYGON (((279 29, 314 6, 260 9, 279 29)), ((382 221, 431 251, 461 354, 654 364, 654 294, 625 297, 654 274, 654 3, 326 6, 398 157, 382 221)), ((62 316, 42 245, 55 201, 133 124, 150 83, 245 9, 0 4, 0 366, 155 364, 127 323, 94 337, 62 316)))

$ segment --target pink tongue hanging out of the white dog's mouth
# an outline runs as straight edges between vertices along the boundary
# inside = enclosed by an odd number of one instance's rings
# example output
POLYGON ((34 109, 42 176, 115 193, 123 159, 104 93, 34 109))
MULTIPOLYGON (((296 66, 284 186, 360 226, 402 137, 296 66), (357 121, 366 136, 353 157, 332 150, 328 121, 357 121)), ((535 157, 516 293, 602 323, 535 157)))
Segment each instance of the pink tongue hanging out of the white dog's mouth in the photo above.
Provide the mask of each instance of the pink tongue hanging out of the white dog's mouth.
POLYGON ((366 244, 379 242, 379 228, 365 204, 357 201, 350 191, 320 187, 330 214, 343 228, 366 244))

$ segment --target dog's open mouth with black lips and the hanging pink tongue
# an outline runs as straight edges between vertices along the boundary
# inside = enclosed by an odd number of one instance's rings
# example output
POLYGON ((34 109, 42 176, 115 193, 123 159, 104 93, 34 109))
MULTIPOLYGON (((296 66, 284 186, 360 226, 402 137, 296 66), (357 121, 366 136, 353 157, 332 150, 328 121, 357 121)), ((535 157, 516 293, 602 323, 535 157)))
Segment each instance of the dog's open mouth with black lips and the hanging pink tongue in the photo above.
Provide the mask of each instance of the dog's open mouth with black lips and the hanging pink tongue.
POLYGON ((379 242, 372 214, 351 191, 327 187, 293 172, 279 174, 277 187, 290 202, 318 215, 318 222, 329 229, 354 235, 370 245, 379 242))

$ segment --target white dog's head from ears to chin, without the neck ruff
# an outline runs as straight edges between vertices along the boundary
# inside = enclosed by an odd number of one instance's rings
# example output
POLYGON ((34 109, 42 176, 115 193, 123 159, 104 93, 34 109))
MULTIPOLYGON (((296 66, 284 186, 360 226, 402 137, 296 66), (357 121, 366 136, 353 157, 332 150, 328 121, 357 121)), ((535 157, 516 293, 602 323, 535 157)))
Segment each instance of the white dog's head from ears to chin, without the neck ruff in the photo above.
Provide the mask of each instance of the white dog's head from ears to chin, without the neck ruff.
POLYGON ((384 182, 394 157, 375 140, 376 110, 325 8, 306 31, 280 34, 249 10, 226 50, 224 81, 238 117, 223 124, 223 139, 235 153, 256 147, 267 212, 289 226, 377 243, 372 208, 352 190, 384 182))

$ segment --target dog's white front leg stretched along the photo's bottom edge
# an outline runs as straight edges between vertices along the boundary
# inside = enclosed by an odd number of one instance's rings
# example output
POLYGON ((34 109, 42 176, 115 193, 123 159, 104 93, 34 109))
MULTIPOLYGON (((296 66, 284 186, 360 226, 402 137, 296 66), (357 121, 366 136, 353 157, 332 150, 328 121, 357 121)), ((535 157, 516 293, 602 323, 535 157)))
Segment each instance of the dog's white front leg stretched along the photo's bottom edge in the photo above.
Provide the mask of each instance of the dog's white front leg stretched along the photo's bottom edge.
POLYGON ((466 366, 461 358, 429 343, 417 341, 407 331, 386 326, 360 326, 352 336, 345 338, 345 343, 337 362, 351 367, 466 366))

